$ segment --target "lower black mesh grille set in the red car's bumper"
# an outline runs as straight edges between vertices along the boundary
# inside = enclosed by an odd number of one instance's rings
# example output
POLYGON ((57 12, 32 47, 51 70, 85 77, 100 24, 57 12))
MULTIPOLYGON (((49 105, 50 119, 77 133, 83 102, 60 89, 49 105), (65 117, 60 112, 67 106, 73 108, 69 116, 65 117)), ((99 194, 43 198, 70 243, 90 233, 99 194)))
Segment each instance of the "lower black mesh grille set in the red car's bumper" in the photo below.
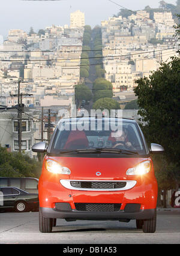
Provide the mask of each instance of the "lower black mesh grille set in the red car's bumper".
POLYGON ((75 203, 75 207, 83 212, 118 212, 121 204, 75 203))

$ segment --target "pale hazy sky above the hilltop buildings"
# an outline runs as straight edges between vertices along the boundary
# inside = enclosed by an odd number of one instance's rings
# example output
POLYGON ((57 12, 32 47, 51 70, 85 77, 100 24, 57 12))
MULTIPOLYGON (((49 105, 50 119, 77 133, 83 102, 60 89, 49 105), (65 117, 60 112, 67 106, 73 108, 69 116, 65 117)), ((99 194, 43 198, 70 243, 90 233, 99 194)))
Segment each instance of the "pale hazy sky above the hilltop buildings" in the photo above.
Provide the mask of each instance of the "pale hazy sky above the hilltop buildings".
MULTIPOLYGON (((146 5, 159 6, 160 0, 112 0, 130 10, 142 10, 146 5)), ((176 0, 167 0, 176 4, 176 0)), ((35 32, 51 25, 70 25, 70 13, 80 10, 85 13, 86 25, 100 25, 101 20, 119 12, 118 5, 109 0, 61 0, 61 1, 26 1, 0 0, 0 37, 7 38, 9 29, 23 29, 35 32)))

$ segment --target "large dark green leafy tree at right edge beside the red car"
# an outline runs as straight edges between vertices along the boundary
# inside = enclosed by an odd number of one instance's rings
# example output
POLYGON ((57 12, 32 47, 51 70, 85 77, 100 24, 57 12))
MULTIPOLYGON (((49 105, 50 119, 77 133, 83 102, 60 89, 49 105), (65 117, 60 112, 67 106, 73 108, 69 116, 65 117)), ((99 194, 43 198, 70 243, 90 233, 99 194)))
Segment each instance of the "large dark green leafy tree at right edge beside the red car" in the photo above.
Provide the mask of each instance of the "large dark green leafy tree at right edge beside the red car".
MULTIPOLYGON (((141 78, 136 83, 134 93, 141 119, 148 124, 149 141, 161 144, 165 149, 168 166, 161 171, 171 170, 177 184, 180 182, 180 59, 172 58, 168 63, 161 63, 149 79, 141 78), (170 169, 170 166, 176 166, 176 169, 170 169)), ((171 178, 166 181, 173 186, 171 178)))

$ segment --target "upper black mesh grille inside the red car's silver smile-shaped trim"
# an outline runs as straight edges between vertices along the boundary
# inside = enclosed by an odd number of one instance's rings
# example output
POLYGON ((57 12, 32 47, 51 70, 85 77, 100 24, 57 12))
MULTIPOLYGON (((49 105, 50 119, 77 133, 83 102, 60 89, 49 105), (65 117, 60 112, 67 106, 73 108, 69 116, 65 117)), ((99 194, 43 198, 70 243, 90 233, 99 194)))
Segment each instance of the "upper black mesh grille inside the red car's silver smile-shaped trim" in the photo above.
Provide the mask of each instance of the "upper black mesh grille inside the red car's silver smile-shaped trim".
POLYGON ((126 186, 125 181, 70 181, 71 186, 80 188, 92 189, 120 189, 126 186))

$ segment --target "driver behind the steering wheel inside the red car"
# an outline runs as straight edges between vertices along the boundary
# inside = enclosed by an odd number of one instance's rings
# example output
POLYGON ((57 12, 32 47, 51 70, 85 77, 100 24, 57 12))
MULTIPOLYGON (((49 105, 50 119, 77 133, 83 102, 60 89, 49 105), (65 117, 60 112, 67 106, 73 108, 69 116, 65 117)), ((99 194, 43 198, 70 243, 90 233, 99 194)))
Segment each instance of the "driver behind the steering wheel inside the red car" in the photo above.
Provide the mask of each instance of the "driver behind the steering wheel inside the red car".
POLYGON ((124 150, 136 150, 130 141, 128 141, 128 131, 117 130, 113 133, 113 137, 115 138, 115 142, 113 143, 113 148, 124 149, 124 150))

